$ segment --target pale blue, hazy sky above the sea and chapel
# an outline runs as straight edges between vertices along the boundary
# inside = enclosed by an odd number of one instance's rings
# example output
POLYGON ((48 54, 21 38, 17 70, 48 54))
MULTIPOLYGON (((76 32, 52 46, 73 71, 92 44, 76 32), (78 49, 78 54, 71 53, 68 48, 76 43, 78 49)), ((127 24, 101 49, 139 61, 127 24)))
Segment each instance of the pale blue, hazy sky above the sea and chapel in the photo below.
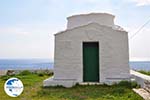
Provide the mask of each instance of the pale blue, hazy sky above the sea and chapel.
MULTIPOLYGON (((0 58, 54 56, 54 35, 66 17, 106 12, 133 35, 150 19, 150 0, 0 0, 0 58)), ((129 40, 130 60, 150 60, 150 23, 129 40)))

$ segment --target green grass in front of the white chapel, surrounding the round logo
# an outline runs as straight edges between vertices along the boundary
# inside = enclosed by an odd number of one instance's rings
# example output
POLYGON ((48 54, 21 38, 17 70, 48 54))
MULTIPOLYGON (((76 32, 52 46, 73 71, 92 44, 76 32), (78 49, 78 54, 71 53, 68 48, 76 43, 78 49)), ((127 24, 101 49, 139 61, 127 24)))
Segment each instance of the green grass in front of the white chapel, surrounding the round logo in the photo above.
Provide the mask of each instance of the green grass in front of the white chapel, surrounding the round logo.
POLYGON ((131 88, 136 85, 130 82, 120 82, 112 86, 76 85, 72 88, 44 88, 42 82, 49 77, 48 75, 26 73, 0 78, 0 100, 143 100, 132 91, 131 88), (10 77, 17 77, 24 83, 24 92, 19 97, 9 97, 3 90, 5 80, 10 77))

